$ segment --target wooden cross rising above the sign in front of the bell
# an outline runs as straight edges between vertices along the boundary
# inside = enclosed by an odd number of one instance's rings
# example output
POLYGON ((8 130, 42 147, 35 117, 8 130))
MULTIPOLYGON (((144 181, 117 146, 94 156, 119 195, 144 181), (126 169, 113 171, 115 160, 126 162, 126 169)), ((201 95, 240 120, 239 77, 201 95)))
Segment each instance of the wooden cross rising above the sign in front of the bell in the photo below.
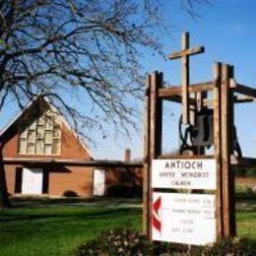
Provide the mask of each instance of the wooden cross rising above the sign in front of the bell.
POLYGON ((181 36, 181 50, 171 53, 169 59, 181 58, 181 87, 182 87, 182 123, 190 124, 189 119, 189 56, 205 52, 204 46, 189 48, 189 32, 181 36))

